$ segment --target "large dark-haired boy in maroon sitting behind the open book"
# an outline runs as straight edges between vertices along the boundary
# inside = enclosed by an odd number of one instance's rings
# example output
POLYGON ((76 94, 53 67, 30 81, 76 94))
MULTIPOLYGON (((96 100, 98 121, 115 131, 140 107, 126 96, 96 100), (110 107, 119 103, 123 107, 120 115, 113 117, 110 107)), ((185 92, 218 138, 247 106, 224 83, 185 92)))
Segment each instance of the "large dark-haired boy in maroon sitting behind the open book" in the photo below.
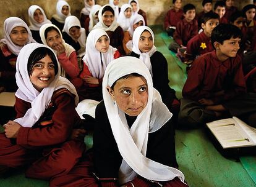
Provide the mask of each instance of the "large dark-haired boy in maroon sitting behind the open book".
POLYGON ((179 124, 202 127, 220 117, 237 116, 256 125, 256 97, 245 94, 242 61, 236 55, 241 36, 237 26, 215 27, 211 33, 215 50, 195 59, 189 70, 182 89, 179 124))

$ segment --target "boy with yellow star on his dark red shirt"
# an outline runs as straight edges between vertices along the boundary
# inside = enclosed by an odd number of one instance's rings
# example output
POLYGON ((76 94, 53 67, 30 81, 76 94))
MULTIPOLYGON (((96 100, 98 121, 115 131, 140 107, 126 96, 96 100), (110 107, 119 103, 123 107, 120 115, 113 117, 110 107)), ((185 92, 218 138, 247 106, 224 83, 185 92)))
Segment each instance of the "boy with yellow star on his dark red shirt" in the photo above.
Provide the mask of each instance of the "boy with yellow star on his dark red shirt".
POLYGON ((213 46, 211 45, 211 32, 213 29, 219 25, 220 17, 214 12, 208 12, 202 17, 202 29, 203 32, 194 36, 187 43, 187 54, 191 55, 193 59, 196 56, 211 52, 213 46))

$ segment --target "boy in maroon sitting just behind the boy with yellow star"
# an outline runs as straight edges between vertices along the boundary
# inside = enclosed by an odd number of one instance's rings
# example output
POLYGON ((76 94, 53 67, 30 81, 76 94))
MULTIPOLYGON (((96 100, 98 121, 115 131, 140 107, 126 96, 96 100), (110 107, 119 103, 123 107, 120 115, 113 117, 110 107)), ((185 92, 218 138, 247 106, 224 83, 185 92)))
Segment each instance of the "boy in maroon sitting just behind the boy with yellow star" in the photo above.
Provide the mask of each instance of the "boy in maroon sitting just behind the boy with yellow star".
POLYGON ((177 23, 176 31, 173 39, 169 45, 169 50, 177 52, 180 47, 186 47, 187 42, 197 35, 197 20, 195 20, 195 6, 193 4, 186 4, 183 7, 184 19, 177 23))

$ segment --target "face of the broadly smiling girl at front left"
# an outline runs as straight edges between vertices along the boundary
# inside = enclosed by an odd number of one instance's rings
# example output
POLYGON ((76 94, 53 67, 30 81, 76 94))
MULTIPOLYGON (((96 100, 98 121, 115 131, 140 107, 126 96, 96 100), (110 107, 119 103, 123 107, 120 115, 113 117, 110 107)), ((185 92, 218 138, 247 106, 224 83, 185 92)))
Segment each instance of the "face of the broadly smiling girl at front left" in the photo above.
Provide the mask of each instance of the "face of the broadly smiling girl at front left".
POLYGON ((48 87, 53 82, 55 76, 54 63, 46 55, 44 58, 35 63, 30 73, 30 81, 38 92, 48 87))

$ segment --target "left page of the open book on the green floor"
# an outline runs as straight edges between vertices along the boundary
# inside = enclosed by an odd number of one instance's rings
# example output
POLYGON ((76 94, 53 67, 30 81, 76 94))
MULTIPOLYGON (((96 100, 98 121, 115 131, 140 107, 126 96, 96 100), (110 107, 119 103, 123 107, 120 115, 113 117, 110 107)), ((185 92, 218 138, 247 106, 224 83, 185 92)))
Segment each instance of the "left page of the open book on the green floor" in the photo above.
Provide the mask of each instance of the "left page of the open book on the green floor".
POLYGON ((255 146, 254 141, 232 118, 213 121, 207 126, 223 148, 255 146))

